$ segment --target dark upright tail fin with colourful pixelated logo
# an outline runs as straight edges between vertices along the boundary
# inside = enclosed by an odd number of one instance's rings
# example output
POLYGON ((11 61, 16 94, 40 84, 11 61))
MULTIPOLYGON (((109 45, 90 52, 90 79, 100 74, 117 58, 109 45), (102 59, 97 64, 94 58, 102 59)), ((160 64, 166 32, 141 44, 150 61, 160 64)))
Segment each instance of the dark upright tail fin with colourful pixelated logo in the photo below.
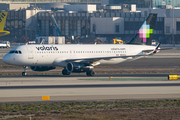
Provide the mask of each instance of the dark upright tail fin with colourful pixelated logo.
POLYGON ((157 14, 149 14, 135 37, 128 44, 151 45, 157 14))

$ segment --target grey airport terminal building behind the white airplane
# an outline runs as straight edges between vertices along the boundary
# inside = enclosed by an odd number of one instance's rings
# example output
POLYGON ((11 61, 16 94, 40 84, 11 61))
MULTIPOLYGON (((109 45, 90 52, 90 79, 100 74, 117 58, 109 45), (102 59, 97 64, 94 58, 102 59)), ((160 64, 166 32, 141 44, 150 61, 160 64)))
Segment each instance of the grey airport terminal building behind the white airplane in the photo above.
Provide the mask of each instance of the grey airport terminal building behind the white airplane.
MULTIPOLYGON (((9 10, 5 30, 11 33, 0 39, 23 42, 25 38, 34 40, 35 36, 56 35, 49 14, 50 9, 35 10, 32 6, 26 6, 27 8, 9 10)), ((48 6, 51 8, 53 4, 48 6)), ((154 39, 162 43, 172 43, 174 33, 175 42, 180 43, 179 12, 178 8, 136 8, 135 5, 99 7, 96 4, 64 4, 54 13, 54 17, 62 35, 68 38, 72 36, 97 36, 109 39, 120 37, 128 41, 137 33, 149 13, 157 13, 154 39)))

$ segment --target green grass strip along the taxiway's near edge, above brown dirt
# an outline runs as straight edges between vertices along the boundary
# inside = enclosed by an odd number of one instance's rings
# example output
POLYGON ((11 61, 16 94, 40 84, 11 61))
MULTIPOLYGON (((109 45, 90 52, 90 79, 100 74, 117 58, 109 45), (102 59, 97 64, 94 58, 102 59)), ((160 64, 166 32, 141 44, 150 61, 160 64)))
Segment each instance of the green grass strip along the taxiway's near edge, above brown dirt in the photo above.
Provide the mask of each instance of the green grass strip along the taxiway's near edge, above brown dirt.
POLYGON ((99 102, 1 103, 0 115, 7 112, 64 112, 137 108, 180 108, 180 100, 174 99, 99 102))

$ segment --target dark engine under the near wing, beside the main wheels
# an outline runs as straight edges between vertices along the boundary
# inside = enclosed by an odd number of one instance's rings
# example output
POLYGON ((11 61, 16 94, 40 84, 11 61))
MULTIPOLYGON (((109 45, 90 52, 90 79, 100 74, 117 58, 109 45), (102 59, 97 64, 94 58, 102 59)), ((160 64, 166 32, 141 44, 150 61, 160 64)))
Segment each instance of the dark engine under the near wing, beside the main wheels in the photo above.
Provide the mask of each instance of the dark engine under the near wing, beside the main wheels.
POLYGON ((69 62, 66 66, 69 72, 87 72, 90 68, 93 68, 93 66, 82 62, 69 62))

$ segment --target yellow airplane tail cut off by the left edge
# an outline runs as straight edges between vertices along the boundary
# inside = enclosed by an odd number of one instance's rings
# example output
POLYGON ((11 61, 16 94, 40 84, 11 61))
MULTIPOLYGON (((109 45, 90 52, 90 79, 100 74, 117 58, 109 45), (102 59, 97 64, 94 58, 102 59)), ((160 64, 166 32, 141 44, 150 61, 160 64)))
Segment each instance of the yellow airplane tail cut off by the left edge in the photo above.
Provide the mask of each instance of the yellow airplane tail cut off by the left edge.
POLYGON ((7 11, 3 11, 0 14, 0 37, 10 34, 9 31, 4 31, 4 25, 5 25, 5 22, 6 22, 7 14, 8 14, 7 11))

